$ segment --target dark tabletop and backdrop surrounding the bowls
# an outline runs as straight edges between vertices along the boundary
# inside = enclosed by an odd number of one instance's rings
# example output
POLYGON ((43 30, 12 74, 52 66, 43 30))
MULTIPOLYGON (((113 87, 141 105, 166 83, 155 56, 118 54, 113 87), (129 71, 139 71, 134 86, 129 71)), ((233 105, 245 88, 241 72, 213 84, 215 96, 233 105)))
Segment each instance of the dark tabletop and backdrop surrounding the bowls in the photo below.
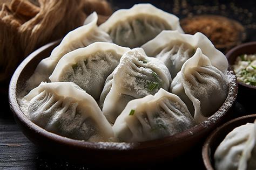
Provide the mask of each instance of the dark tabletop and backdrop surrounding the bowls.
MULTIPOLYGON (((131 8, 137 3, 152 3, 157 8, 173 13, 180 19, 187 16, 213 14, 232 18, 240 22, 246 29, 245 42, 256 40, 256 3, 254 1, 110 1, 113 10, 119 8, 131 8)), ((221 23, 220 23, 221 24, 221 23)), ((225 35, 224 35, 225 36, 225 35)), ((1 95, 2 109, 0 110, 0 168, 24 168, 24 169, 97 169, 95 166, 75 164, 62 158, 53 158, 33 145, 19 130, 12 118, 6 95, 1 95)), ((241 107, 236 105, 236 113, 241 114, 241 107)), ((102 168, 130 169, 140 166, 142 169, 204 169, 201 160, 201 145, 191 148, 180 158, 167 160, 151 165, 130 165, 130 167, 102 166, 102 168)), ((153 153, 152 153, 153 154, 153 153)))

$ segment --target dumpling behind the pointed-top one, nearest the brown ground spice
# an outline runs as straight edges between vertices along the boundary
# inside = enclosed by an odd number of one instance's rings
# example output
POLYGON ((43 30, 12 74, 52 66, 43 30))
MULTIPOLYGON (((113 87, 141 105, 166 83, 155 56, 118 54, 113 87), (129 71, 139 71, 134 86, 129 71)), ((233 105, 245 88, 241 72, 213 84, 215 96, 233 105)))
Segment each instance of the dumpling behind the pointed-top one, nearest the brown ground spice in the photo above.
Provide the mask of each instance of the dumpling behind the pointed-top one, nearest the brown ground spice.
POLYGON ((153 56, 165 63, 172 79, 180 71, 183 63, 200 48, 214 67, 226 72, 228 67, 225 55, 218 51, 212 42, 202 33, 182 34, 178 31, 162 31, 158 36, 142 46, 148 56, 153 56))

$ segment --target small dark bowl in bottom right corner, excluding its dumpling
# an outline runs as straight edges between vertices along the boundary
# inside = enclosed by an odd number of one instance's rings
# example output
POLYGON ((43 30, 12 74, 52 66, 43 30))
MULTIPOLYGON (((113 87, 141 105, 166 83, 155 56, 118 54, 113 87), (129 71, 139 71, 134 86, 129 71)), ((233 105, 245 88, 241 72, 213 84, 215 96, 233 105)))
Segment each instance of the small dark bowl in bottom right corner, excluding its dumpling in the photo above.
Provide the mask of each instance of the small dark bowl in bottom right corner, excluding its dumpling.
POLYGON ((204 160, 205 168, 210 170, 214 169, 214 153, 221 141, 230 133, 233 129, 238 126, 244 125, 246 123, 253 123, 256 119, 256 114, 242 116, 236 119, 233 119, 224 125, 217 128, 205 141, 202 156, 204 160))

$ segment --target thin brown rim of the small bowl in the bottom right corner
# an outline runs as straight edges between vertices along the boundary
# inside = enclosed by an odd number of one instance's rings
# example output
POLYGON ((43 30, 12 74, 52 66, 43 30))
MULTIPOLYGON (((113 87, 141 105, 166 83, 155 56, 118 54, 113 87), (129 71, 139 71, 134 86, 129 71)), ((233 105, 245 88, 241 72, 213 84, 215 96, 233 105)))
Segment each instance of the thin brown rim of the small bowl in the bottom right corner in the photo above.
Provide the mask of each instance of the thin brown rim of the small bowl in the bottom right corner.
MULTIPOLYGON (((231 121, 228 121, 226 123, 224 123, 223 125, 219 126, 215 131, 213 131, 210 136, 208 136, 204 142, 203 148, 202 148, 202 152, 201 155, 203 157, 203 162, 204 162, 204 166, 206 169, 214 169, 214 165, 212 165, 211 159, 210 159, 210 155, 211 152, 210 151, 210 143, 212 140, 214 140, 217 137, 217 134, 220 133, 226 126, 233 124, 234 122, 238 122, 241 119, 246 119, 249 117, 255 117, 256 119, 256 114, 252 114, 252 115, 246 115, 246 116, 242 116, 242 117, 238 117, 238 118, 234 118, 231 121)), ((214 151, 215 152, 215 151, 214 151)))

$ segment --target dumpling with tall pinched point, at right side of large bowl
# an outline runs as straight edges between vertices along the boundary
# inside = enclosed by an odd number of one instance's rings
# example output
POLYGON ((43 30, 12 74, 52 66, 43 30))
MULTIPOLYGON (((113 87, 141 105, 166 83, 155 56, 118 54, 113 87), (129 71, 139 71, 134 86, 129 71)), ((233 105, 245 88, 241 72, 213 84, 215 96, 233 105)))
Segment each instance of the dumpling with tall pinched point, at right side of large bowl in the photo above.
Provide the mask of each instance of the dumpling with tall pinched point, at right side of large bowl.
MULTIPOLYGON (((225 57, 225 56, 224 56, 225 57)), ((212 66, 200 48, 181 67, 174 77, 171 93, 186 103, 197 122, 205 121, 224 103, 228 93, 226 72, 212 66)))

